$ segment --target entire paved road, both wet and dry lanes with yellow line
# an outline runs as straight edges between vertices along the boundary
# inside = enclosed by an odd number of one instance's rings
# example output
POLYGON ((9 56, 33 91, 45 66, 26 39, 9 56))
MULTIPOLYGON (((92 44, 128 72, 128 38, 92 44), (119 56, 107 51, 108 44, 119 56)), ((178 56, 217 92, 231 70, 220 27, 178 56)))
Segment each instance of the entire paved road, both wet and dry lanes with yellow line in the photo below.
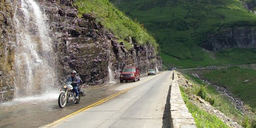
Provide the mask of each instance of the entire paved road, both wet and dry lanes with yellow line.
POLYGON ((79 104, 64 109, 58 106, 58 96, 51 101, 0 104, 0 127, 169 127, 166 100, 171 73, 87 88, 79 104))

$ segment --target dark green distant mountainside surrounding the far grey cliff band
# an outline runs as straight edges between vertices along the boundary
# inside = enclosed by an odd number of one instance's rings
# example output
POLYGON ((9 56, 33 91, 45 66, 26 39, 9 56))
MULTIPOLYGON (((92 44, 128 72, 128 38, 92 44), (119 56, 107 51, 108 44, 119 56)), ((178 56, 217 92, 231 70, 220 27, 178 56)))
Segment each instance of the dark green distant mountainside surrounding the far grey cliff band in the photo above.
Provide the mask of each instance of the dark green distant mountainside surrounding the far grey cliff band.
MULTIPOLYGON (((212 63, 222 65, 223 61, 219 61, 218 57, 212 59, 202 50, 207 34, 227 27, 256 25, 256 15, 246 9, 243 1, 238 0, 112 2, 152 33, 160 45, 166 66, 191 68, 195 61, 205 66, 212 63)), ((256 2, 247 0, 246 3, 253 9, 256 2)))

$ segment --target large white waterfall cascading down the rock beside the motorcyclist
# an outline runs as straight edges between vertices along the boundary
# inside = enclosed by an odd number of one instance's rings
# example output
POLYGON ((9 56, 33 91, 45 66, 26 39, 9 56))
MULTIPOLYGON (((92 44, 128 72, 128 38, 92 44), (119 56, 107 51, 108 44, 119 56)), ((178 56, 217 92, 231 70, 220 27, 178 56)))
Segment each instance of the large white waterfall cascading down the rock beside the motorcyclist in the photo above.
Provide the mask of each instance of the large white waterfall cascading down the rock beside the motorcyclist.
POLYGON ((16 31, 15 97, 49 93, 56 85, 55 53, 46 15, 33 0, 20 0, 16 31))

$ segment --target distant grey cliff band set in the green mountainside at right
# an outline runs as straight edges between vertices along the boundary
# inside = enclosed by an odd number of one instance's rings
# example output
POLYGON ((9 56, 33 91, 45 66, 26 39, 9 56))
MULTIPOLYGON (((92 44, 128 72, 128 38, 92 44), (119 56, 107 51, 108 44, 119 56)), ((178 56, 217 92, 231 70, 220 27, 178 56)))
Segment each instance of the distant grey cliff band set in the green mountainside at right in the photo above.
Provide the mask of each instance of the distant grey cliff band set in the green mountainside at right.
POLYGON ((256 48, 256 28, 239 27, 228 28, 218 34, 208 35, 205 49, 220 51, 229 48, 256 48))

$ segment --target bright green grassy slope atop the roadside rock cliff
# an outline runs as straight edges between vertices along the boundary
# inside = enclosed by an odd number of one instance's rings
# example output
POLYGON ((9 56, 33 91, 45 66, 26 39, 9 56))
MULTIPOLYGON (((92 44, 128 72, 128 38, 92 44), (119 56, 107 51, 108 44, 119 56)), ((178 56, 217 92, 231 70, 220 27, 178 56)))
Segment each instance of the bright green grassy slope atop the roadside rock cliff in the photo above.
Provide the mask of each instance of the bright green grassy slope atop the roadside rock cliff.
POLYGON ((155 47, 156 53, 158 52, 156 40, 147 33, 146 29, 125 16, 108 0, 76 0, 74 5, 78 8, 80 16, 83 13, 93 14, 99 24, 112 32, 119 42, 124 42, 126 49, 132 47, 130 43, 132 37, 138 45, 150 43, 155 47))

